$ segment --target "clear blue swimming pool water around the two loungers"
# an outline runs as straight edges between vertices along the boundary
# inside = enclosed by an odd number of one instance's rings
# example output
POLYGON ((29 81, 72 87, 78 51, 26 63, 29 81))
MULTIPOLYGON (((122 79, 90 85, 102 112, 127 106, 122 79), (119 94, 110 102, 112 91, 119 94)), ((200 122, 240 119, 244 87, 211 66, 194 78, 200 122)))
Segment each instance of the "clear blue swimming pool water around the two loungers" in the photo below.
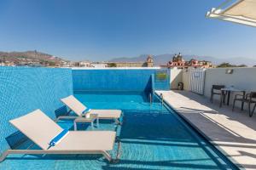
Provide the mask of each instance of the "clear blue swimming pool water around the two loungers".
MULTIPOLYGON (((155 103, 148 95, 134 93, 74 93, 90 108, 121 109, 122 126, 101 121, 99 129, 116 130, 121 140, 121 157, 109 164, 102 156, 9 156, 0 169, 236 169, 200 135, 187 126, 175 112, 155 103)), ((73 129, 70 121, 60 122, 73 129)), ((91 130, 79 125, 79 130, 91 130)), ((113 153, 115 152, 113 151, 113 153)))

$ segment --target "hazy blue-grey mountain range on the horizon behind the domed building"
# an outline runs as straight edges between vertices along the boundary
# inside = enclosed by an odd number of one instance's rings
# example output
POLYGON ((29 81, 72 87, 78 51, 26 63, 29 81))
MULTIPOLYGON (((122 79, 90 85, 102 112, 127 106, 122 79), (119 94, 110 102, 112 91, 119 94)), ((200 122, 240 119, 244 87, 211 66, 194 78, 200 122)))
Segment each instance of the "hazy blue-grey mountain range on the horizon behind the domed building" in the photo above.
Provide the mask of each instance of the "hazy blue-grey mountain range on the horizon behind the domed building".
MULTIPOLYGON (((154 65, 166 65, 168 61, 172 60, 174 54, 160 54, 154 55, 154 65)), ((114 58, 110 59, 109 62, 144 62, 146 61, 148 54, 142 54, 138 57, 133 58, 114 58)), ((210 56, 196 56, 196 55, 183 55, 184 60, 190 59, 198 59, 198 60, 207 60, 211 61, 213 65, 219 65, 221 63, 227 62, 232 65, 248 65, 253 66, 256 65, 256 59, 251 58, 243 58, 243 57, 236 57, 236 58, 215 58, 210 56)))

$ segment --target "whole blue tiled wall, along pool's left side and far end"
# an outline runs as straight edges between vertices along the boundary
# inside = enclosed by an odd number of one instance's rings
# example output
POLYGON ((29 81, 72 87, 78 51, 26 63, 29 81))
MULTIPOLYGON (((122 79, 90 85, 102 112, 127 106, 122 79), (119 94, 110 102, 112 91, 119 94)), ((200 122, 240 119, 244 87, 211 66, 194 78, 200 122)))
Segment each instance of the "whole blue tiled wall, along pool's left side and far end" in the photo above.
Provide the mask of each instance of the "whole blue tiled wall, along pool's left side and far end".
MULTIPOLYGON (((77 90, 149 91, 156 71, 0 67, 0 154, 9 149, 5 138, 17 131, 9 120, 36 109, 54 119, 63 110, 60 99, 77 90)), ((169 86, 169 79, 154 82, 154 89, 169 86)))

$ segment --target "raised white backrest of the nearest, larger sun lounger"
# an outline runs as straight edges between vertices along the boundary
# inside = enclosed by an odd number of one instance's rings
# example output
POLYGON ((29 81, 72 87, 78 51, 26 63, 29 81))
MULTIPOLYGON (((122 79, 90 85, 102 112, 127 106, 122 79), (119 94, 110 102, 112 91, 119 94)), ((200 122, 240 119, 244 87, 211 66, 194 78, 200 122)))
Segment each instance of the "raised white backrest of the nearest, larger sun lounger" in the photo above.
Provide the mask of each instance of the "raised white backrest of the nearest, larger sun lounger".
POLYGON ((43 150, 47 150, 50 140, 63 130, 40 110, 32 111, 9 122, 43 150))

